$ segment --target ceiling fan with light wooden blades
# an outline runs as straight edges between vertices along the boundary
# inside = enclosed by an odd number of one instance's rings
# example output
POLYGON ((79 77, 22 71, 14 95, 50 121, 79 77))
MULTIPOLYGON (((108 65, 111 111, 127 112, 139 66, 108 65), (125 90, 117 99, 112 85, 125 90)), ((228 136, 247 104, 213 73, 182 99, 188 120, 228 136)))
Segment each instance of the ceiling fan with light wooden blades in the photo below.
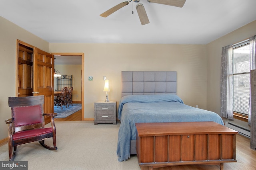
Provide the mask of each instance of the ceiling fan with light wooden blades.
MULTIPOLYGON (((106 12, 103 12, 102 14, 100 14, 100 16, 102 17, 107 17, 110 14, 113 14, 114 12, 116 12, 117 10, 120 10, 121 8, 123 8, 124 6, 128 5, 130 1, 124 1, 121 2, 120 4, 114 6, 113 8, 110 8, 109 10, 107 10, 106 12)), ((182 8, 183 5, 185 4, 186 0, 147 0, 148 2, 152 2, 152 3, 157 3, 157 4, 164 4, 164 5, 170 5, 170 6, 176 6, 176 7, 180 7, 182 8)), ((136 10, 138 12, 138 16, 140 18, 140 23, 141 25, 145 25, 149 23, 148 20, 148 16, 146 13, 146 10, 144 8, 143 4, 140 4, 140 0, 133 0, 133 2, 137 2, 138 4, 136 5, 136 10)))

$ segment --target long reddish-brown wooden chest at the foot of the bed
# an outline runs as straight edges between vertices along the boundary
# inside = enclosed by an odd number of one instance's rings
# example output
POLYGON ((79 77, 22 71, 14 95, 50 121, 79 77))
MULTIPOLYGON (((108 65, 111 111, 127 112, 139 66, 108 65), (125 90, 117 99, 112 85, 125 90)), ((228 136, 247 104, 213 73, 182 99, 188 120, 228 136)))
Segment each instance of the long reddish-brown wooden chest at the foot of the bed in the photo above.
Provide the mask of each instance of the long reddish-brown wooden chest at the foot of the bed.
POLYGON ((215 122, 135 123, 141 169, 236 162, 236 134, 215 122))

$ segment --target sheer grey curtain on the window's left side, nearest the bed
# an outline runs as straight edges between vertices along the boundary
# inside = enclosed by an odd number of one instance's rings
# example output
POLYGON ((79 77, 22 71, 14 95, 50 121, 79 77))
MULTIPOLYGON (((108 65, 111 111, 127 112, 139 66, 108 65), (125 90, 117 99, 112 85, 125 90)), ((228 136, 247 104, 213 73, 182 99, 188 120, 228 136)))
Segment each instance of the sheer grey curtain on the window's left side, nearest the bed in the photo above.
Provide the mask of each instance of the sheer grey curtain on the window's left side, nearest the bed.
POLYGON ((220 115, 228 119, 233 116, 233 49, 232 45, 222 47, 220 78, 220 115))

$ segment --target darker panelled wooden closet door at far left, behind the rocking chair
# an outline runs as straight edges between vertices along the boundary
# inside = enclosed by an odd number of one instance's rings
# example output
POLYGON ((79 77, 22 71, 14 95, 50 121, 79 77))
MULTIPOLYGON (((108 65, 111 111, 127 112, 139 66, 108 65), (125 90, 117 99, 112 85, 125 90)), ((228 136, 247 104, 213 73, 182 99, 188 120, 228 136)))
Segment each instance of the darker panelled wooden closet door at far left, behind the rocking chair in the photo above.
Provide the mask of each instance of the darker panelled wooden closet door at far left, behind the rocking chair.
POLYGON ((18 97, 33 96, 33 48, 18 44, 18 97))

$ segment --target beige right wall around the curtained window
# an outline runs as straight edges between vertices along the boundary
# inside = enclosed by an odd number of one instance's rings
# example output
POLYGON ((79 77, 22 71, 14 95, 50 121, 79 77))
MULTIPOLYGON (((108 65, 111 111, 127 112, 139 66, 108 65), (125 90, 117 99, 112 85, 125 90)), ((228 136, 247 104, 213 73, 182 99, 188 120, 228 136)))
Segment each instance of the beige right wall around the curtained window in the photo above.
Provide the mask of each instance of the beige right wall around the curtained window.
MULTIPOLYGON (((220 60, 222 47, 238 43, 256 35, 256 20, 212 41, 207 47, 207 109, 220 114, 220 60)), ((237 124, 248 124, 235 120, 237 124)), ((250 127, 248 127, 250 128, 250 127)))

